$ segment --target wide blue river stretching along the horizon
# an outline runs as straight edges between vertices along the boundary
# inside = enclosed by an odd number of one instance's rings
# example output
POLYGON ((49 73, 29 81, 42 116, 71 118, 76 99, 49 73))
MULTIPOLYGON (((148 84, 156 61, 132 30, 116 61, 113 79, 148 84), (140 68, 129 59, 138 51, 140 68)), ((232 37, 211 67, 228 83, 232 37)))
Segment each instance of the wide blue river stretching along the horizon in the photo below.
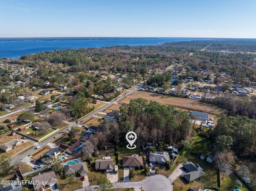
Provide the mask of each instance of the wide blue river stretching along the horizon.
POLYGON ((212 40, 212 38, 164 37, 41 37, 0 38, 0 57, 17 59, 21 55, 54 49, 106 47, 116 45, 158 45, 166 42, 212 40))

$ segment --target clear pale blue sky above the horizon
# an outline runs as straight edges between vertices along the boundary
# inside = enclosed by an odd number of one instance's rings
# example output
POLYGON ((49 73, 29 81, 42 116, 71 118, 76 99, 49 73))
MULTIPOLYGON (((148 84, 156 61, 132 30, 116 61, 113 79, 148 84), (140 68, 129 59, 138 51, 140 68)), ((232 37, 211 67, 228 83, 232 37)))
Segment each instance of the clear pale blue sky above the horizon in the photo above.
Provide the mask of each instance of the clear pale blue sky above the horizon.
POLYGON ((1 0, 0 37, 256 38, 256 0, 1 0))

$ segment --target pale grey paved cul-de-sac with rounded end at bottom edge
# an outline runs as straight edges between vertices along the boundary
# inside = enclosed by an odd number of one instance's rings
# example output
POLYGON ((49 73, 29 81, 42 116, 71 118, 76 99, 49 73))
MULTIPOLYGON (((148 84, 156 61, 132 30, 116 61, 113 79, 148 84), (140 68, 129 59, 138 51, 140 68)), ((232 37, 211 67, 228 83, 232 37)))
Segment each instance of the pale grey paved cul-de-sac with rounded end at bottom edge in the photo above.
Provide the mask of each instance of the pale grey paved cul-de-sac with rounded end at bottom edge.
POLYGON ((173 185, 170 179, 166 178, 164 175, 152 175, 146 177, 140 182, 122 182, 114 183, 113 188, 136 188, 136 190, 142 189, 146 191, 172 191, 173 185))

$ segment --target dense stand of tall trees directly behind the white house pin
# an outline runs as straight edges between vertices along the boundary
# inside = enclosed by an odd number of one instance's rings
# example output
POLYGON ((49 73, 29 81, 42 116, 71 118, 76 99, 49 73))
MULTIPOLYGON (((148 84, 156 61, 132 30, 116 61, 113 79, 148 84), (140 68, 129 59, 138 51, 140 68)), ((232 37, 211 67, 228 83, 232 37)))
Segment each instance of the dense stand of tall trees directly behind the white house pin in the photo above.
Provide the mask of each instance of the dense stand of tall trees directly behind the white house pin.
POLYGON ((121 106, 116 121, 104 123, 104 134, 96 133, 90 141, 102 140, 95 144, 99 147, 106 145, 107 141, 118 144, 129 131, 136 132, 137 144, 165 142, 182 148, 180 141, 189 140, 192 124, 186 111, 138 98, 121 106))

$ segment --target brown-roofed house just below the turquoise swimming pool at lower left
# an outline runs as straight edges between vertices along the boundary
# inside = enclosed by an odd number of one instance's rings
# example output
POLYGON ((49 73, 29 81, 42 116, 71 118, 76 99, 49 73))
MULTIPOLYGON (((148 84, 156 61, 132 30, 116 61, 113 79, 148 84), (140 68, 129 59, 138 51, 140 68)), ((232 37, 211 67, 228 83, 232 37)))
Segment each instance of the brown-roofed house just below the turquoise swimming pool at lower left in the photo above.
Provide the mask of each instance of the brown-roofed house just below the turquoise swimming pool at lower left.
POLYGON ((88 167, 86 162, 81 162, 77 164, 64 165, 64 174, 71 175, 73 173, 79 172, 80 176, 88 175, 88 167))

